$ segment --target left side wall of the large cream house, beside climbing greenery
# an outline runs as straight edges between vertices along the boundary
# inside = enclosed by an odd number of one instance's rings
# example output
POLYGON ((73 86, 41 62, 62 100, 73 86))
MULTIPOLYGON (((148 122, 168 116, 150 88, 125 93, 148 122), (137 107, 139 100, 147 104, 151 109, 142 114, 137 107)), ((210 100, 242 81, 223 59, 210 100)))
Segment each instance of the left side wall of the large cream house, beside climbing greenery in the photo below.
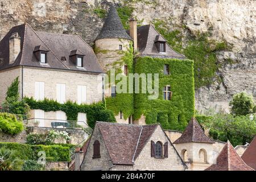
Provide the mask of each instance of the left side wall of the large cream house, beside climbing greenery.
MULTIPOLYGON (((21 80, 21 68, 0 71, 0 105, 5 101, 7 88, 16 77, 19 77, 19 81, 21 80)), ((21 90, 21 84, 19 84, 19 95, 21 95, 21 90)))

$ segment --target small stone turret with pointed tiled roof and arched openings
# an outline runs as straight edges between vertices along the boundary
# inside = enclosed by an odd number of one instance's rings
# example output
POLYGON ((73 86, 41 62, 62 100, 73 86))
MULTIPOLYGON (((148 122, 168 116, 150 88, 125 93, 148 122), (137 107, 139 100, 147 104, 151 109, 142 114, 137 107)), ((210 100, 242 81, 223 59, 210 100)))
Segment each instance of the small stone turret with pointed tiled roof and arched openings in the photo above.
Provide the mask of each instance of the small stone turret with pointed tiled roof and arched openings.
POLYGON ((200 171, 214 163, 215 142, 207 137, 196 121, 192 118, 180 138, 175 140, 175 148, 191 171, 200 171))

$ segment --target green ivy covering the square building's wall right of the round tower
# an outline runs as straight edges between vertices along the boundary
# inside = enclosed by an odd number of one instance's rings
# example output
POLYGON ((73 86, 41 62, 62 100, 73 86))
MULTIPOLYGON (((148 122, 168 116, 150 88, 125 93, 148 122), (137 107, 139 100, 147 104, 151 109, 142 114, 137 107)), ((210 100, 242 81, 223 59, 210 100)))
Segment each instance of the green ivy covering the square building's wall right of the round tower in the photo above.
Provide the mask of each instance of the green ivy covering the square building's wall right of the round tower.
POLYGON ((134 119, 144 114, 147 124, 159 122, 164 129, 184 130, 195 115, 193 61, 138 57, 134 72, 159 73, 159 98, 148 100, 148 93, 134 94, 134 119), (170 75, 163 74, 164 64, 169 65, 170 75), (171 101, 163 100, 166 85, 171 86, 171 101))

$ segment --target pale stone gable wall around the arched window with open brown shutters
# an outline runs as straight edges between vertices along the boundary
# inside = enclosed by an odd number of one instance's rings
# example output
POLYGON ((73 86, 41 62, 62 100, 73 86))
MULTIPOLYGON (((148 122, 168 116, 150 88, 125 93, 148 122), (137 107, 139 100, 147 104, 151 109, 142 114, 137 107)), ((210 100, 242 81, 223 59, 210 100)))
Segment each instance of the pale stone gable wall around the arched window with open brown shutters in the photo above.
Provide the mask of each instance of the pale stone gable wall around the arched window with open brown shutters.
POLYGON ((135 159, 133 169, 134 170, 152 170, 152 171, 183 171, 186 166, 183 160, 177 154, 175 148, 169 142, 168 137, 164 134, 164 131, 160 126, 158 126, 155 132, 152 134, 151 138, 144 146, 141 154, 135 159), (151 157, 151 140, 155 143, 160 141, 163 144, 168 142, 168 158, 152 158, 151 157))

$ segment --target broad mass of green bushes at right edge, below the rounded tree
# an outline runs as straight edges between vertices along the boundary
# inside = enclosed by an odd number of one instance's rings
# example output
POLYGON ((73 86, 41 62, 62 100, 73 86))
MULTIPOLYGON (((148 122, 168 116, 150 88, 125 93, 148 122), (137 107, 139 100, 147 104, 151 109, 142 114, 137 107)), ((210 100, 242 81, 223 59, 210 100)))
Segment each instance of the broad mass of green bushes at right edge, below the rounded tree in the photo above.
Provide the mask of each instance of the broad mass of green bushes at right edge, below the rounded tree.
POLYGON ((256 119, 251 121, 249 115, 216 114, 205 125, 210 137, 223 142, 229 140, 233 146, 250 143, 256 134, 256 119))

